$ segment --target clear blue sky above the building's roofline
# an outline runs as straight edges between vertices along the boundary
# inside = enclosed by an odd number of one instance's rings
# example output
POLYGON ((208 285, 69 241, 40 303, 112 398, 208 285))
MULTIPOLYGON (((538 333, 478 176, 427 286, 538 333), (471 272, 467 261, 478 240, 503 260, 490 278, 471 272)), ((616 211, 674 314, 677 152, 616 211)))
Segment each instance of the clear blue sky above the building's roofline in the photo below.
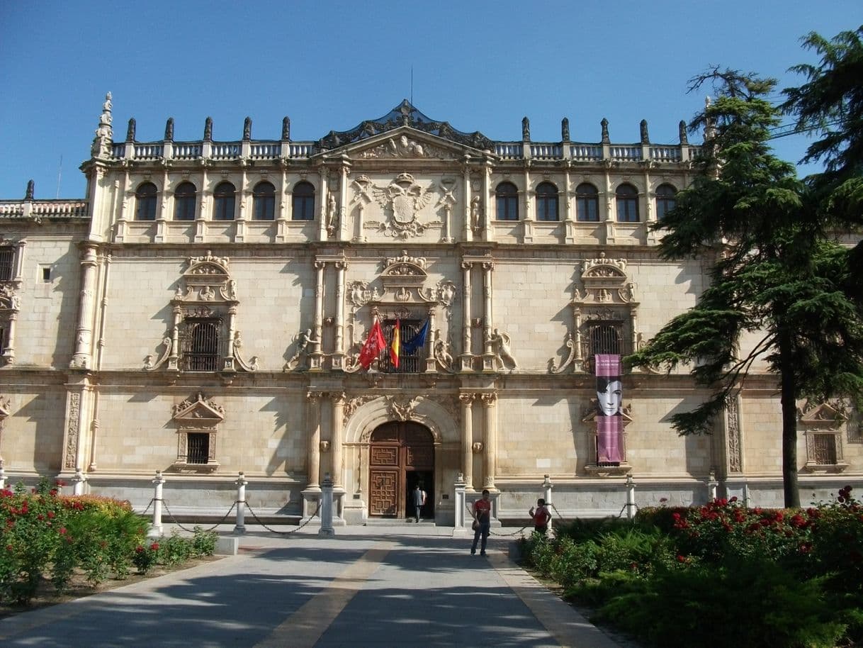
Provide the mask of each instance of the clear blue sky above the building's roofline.
MULTIPOLYGON (((0 199, 82 197, 104 94, 114 129, 137 138, 311 140, 377 118, 411 98, 457 130, 516 140, 676 143, 703 92, 687 80, 710 64, 777 77, 813 54, 799 38, 831 37, 863 22, 860 0, 582 0, 576 2, 93 2, 0 0, 0 199), (60 158, 62 157, 62 166, 60 158), (60 169, 62 173, 60 174, 60 169)), ((780 97, 777 96, 777 99, 780 97)), ((690 137, 690 141, 700 141, 690 137)), ((796 162, 803 137, 774 141, 796 162)), ((803 168, 801 174, 816 170, 803 168)))

